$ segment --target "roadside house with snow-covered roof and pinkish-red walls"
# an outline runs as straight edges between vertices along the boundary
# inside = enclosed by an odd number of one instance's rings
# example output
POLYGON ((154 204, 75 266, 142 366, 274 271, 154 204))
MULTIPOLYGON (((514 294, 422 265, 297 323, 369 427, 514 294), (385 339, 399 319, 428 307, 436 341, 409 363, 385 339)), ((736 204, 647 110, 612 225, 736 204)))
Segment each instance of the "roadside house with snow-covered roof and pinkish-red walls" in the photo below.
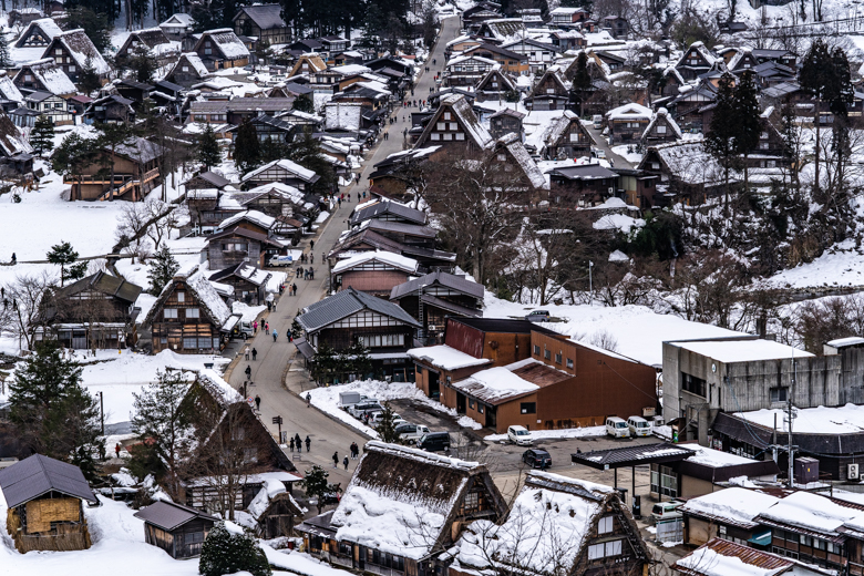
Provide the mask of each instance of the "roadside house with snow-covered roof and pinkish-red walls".
POLYGON ((381 298, 390 296, 394 286, 408 281, 416 274, 418 264, 390 251, 364 251, 339 260, 330 269, 333 290, 353 288, 381 298))

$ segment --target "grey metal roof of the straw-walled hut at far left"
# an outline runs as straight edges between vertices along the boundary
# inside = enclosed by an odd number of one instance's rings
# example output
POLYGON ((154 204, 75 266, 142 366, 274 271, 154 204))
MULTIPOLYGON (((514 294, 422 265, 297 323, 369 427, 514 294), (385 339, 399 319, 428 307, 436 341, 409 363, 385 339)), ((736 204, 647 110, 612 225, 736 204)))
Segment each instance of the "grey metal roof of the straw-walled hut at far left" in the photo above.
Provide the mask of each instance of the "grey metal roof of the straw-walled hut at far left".
POLYGON ((97 502, 96 495, 81 473, 81 469, 42 454, 0 470, 0 490, 10 508, 38 498, 51 491, 88 502, 97 502))

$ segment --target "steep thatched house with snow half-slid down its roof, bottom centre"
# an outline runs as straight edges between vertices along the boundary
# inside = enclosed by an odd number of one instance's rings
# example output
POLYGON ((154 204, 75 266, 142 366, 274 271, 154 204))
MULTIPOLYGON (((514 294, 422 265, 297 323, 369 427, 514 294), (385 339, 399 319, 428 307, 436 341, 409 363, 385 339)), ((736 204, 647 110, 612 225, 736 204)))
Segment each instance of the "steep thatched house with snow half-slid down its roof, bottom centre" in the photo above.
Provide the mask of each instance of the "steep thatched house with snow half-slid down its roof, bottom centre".
POLYGON ((433 558, 479 518, 507 505, 477 462, 371 441, 335 511, 299 526, 306 549, 331 564, 388 576, 432 575, 433 558))

